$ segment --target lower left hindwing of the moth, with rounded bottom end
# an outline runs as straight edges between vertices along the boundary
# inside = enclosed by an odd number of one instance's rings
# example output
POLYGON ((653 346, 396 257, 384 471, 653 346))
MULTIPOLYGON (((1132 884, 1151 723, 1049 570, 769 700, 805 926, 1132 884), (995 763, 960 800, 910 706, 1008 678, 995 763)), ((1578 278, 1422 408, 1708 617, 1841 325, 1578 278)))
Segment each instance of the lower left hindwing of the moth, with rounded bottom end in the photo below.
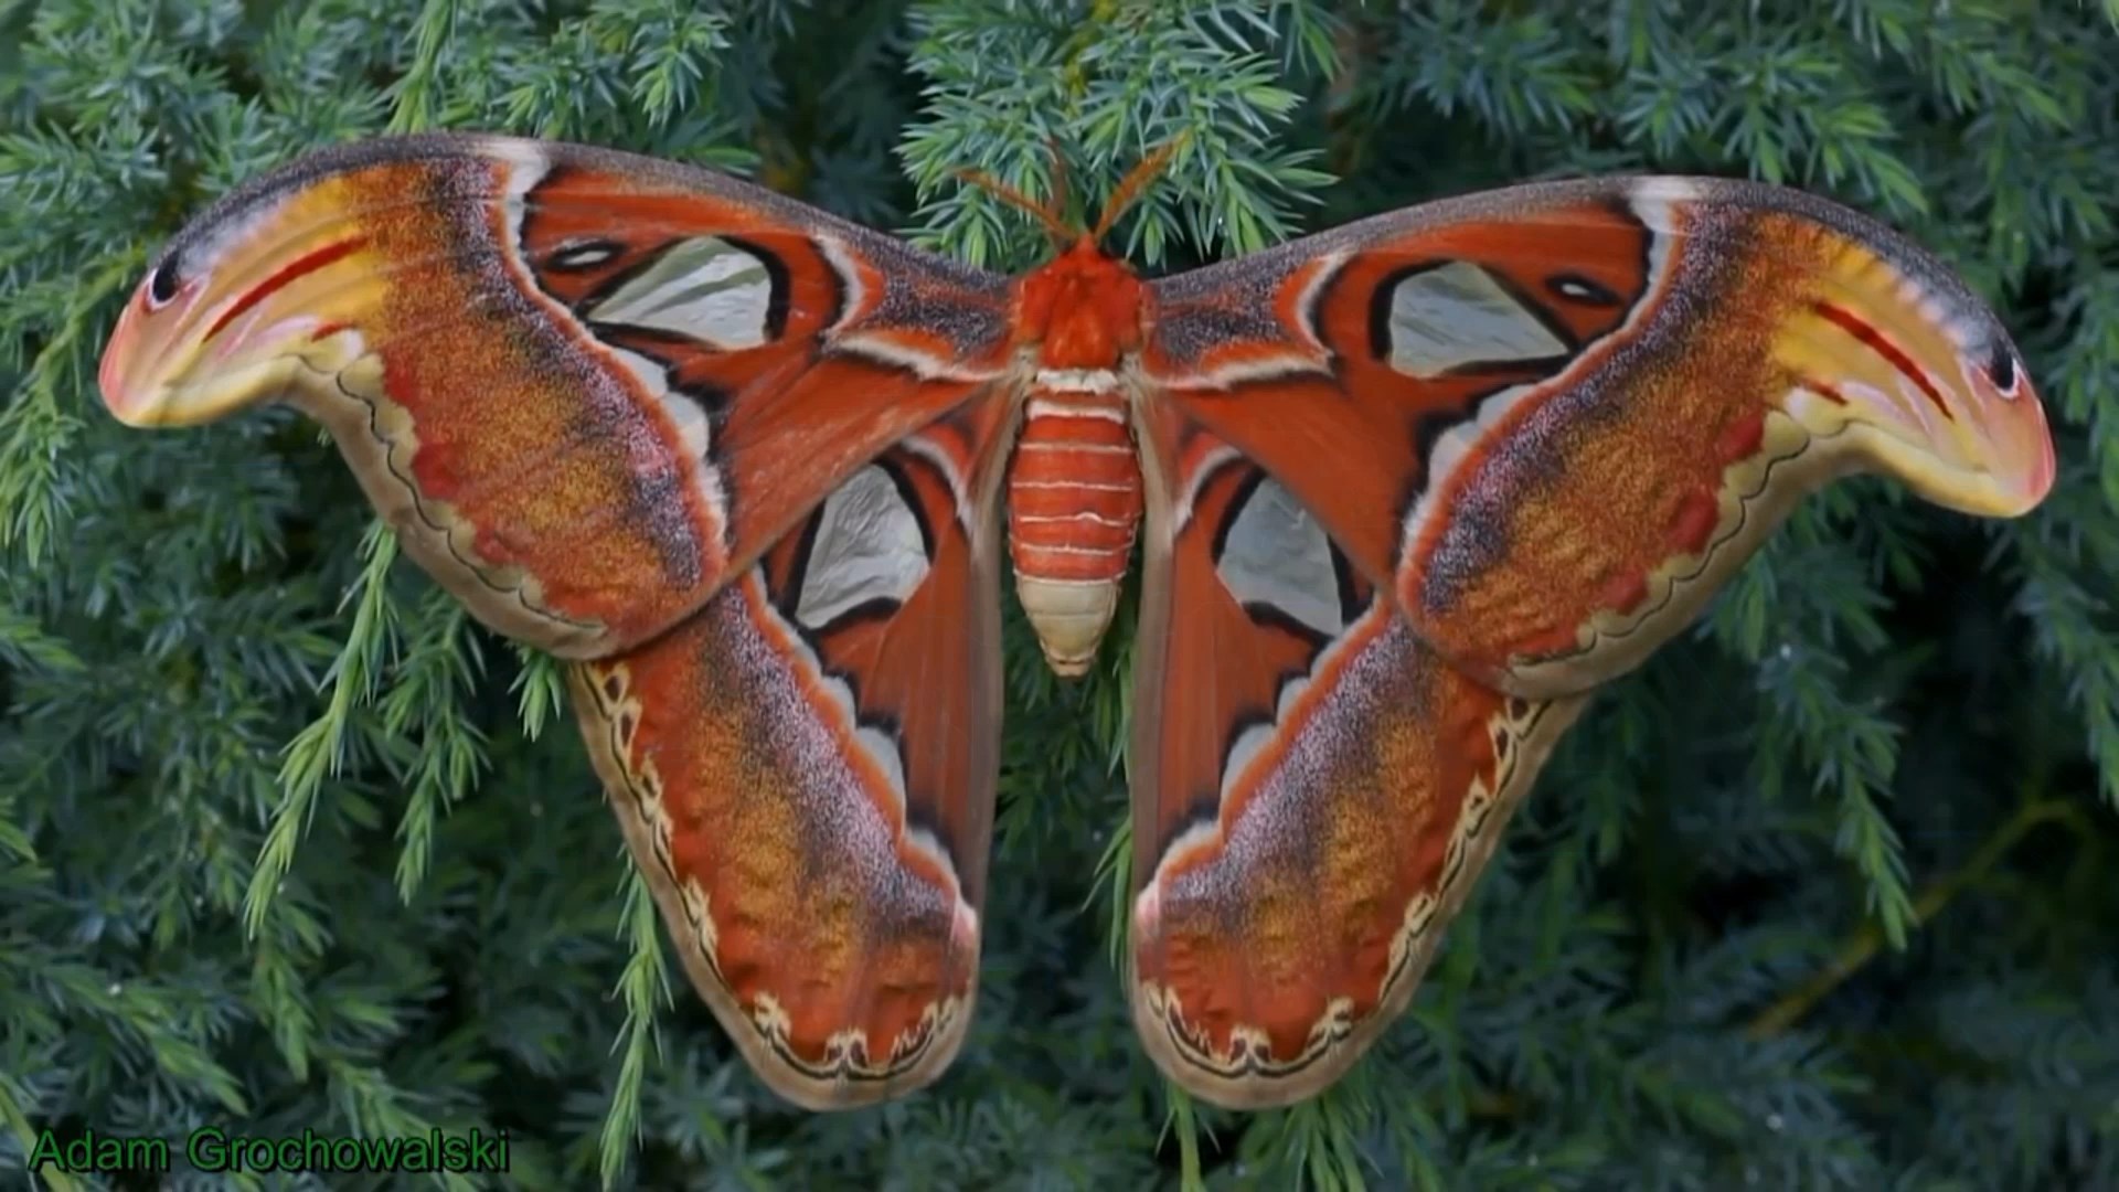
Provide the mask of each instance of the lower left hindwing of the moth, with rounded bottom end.
POLYGON ((979 403, 888 450, 672 634, 572 670, 687 974, 812 1109, 928 1084, 971 1024, 1002 416, 979 403))

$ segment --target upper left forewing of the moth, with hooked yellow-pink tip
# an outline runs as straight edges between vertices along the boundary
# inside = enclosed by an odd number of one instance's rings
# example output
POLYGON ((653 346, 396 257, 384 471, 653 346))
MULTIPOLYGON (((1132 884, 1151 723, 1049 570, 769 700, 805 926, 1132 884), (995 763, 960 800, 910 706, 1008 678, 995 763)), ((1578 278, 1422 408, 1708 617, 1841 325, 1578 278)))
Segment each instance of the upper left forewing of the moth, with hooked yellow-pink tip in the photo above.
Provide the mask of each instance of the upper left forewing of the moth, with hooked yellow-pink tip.
POLYGON ((1007 280, 625 153, 384 138, 195 218, 127 303, 110 409, 320 418, 494 630, 629 649, 1004 365, 1007 280))

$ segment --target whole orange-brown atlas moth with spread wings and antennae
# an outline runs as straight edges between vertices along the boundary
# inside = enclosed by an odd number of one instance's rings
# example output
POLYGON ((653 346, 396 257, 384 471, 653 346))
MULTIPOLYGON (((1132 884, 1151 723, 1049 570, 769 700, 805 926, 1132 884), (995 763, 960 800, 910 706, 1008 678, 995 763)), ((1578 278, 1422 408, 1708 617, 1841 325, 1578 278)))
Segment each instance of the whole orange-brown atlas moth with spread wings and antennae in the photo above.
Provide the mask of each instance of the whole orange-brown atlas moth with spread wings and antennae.
POLYGON ((1170 1080, 1263 1107, 1392 1022, 1589 694, 1797 498, 2053 484, 1996 316, 1837 204, 1536 182, 1142 280, 1102 233, 1157 165, 1089 233, 994 185, 1062 242, 1004 278, 689 165, 371 140, 184 227, 102 390, 301 407, 566 660, 693 986, 820 1109, 964 1041, 1002 541, 1062 674, 1140 547, 1125 982, 1170 1080))

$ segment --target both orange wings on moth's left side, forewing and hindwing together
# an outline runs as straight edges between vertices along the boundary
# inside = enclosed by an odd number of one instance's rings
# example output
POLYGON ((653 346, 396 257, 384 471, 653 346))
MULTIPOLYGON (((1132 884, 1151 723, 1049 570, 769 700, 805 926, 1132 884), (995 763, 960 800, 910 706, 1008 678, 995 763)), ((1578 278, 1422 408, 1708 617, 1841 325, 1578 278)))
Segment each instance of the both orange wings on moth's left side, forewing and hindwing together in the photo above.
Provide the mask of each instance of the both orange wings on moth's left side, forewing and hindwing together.
POLYGON ((295 401, 439 583, 576 660, 693 984, 771 1088, 843 1107, 971 1022, 1007 301, 716 174, 403 138, 199 216, 102 386, 133 424, 295 401))

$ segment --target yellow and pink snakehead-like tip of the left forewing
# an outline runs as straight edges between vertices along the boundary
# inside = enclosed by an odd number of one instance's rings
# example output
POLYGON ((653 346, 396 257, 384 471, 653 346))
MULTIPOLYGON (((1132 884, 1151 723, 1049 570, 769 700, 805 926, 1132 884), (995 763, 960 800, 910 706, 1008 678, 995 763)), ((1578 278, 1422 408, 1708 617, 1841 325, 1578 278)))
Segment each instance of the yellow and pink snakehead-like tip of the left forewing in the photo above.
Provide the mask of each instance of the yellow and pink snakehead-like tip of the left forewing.
POLYGON ((379 274, 331 208, 237 191, 163 250, 104 348, 104 405, 127 426, 212 422, 326 380, 358 352, 379 274))

